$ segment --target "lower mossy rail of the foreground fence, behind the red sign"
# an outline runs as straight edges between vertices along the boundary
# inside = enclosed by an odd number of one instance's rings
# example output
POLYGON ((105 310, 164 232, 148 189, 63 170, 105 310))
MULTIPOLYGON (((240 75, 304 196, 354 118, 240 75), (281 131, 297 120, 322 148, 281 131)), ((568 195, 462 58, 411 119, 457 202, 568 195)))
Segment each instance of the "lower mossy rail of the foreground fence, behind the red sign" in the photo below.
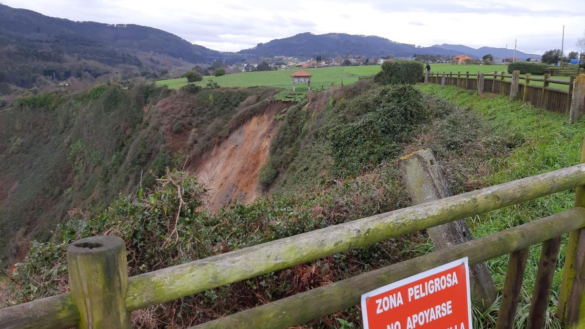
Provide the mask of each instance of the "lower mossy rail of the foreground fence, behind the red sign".
POLYGON ((574 208, 192 328, 291 327, 354 306, 359 303, 363 293, 431 269, 438 264, 467 256, 469 265, 475 265, 584 226, 585 208, 574 208))

